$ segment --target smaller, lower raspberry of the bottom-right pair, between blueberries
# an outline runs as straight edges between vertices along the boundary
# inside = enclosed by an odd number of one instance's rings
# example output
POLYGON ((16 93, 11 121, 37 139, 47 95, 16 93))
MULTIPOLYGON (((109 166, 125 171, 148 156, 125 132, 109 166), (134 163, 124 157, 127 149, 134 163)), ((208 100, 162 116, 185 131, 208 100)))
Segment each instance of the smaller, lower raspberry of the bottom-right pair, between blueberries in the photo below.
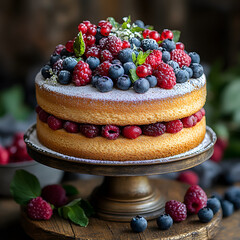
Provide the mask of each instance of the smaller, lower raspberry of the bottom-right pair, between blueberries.
POLYGON ((166 202, 165 212, 169 214, 175 222, 181 222, 187 218, 186 205, 176 200, 166 202))

